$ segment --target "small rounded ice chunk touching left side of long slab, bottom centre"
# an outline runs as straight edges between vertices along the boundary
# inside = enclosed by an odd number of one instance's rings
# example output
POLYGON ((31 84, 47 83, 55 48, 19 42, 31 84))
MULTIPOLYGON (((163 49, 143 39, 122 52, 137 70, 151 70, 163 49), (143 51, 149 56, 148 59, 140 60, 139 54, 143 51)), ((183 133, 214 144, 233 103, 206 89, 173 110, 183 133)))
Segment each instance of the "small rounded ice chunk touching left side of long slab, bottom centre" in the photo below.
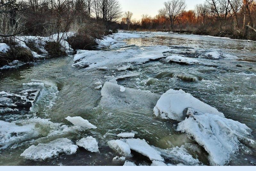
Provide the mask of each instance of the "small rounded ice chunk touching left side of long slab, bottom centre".
POLYGON ((131 156, 130 146, 121 140, 111 140, 108 142, 108 145, 110 148, 116 150, 121 155, 131 156))

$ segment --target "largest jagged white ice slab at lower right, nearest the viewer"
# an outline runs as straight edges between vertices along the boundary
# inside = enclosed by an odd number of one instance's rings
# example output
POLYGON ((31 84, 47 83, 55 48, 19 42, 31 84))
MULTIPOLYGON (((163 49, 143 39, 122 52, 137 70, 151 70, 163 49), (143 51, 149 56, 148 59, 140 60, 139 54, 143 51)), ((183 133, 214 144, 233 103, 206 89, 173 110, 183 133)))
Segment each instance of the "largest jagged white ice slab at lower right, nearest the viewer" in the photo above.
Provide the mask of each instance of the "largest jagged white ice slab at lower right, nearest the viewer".
POLYGON ((245 124, 218 115, 192 115, 178 124, 177 131, 186 132, 209 153, 212 165, 225 165, 241 147, 240 141, 251 142, 251 129, 245 124))

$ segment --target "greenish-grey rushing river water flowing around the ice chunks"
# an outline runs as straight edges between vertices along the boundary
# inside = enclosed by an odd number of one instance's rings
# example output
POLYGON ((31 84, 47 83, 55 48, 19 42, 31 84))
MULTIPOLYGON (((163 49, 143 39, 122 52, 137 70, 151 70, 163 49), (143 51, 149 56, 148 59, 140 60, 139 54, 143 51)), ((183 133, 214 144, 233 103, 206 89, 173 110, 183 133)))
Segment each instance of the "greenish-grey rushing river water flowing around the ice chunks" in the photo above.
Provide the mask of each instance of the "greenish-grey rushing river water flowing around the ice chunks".
MULTIPOLYGON (((139 76, 118 80, 118 84, 132 89, 149 90, 159 95, 169 89, 183 89, 204 103, 217 108, 225 114, 226 118, 246 124, 254 134, 256 131, 256 42, 198 35, 140 34, 151 36, 127 39, 125 41, 128 45, 135 45, 127 48, 136 50, 144 46, 164 45, 173 47, 175 51, 172 53, 176 54, 192 52, 194 55, 200 55, 207 51, 218 51, 226 57, 236 56, 238 59, 201 58, 200 61, 207 65, 180 65, 164 63, 161 60, 150 61, 135 66, 134 70, 140 73, 139 76), (197 81, 184 81, 173 76, 173 74, 184 73, 193 75, 197 81), (144 80, 148 78, 157 78, 159 81, 150 85, 145 84, 144 80)), ((98 128, 46 137, 54 126, 37 124, 37 129, 40 129, 39 136, 27 140, 26 143, 16 142, 16 146, 12 144, 0 150, 0 165, 123 165, 122 161, 112 161, 118 154, 107 145, 107 142, 115 139, 115 134, 120 132, 133 131, 136 133, 136 138, 145 139, 149 144, 163 149, 180 147, 186 143, 196 144, 187 137, 186 133, 175 130, 178 122, 156 118, 153 108, 139 106, 131 110, 119 106, 98 107, 101 91, 94 89, 94 83, 104 81, 105 75, 121 75, 124 72, 115 71, 114 66, 108 66, 111 68, 109 71, 101 71, 75 68, 72 64, 73 56, 68 56, 37 61, 32 65, 28 64, 15 69, 0 70, 0 91, 19 92, 26 87, 22 84, 32 82, 31 80, 42 80, 49 84, 41 90, 30 112, 18 115, 14 115, 15 113, 1 115, 0 113, 0 120, 9 122, 28 120, 36 115, 42 119, 50 119, 54 123, 71 125, 65 120, 67 116, 81 116, 98 128), (32 144, 47 143, 60 137, 67 137, 75 142, 84 136, 96 138, 100 153, 91 153, 79 148, 76 154, 61 155, 45 161, 26 160, 20 156, 32 144)), ((190 153, 203 164, 209 165, 206 158, 208 154, 203 148, 200 148, 199 153, 193 150, 190 153)), ((244 151, 238 153, 229 165, 255 165, 255 149, 248 153, 244 151)), ((133 158, 129 160, 142 165, 151 163, 149 159, 138 153, 134 153, 133 158)))

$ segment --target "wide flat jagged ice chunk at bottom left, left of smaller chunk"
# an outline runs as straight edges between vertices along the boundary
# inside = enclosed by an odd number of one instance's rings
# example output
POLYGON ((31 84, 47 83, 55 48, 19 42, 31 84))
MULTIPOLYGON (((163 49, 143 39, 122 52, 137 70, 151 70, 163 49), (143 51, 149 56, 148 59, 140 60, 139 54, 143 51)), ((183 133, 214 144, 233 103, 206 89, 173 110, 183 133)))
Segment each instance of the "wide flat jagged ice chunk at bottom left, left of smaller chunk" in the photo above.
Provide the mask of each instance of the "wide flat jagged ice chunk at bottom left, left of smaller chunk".
POLYGON ((67 138, 59 138, 47 144, 31 145, 21 156, 31 160, 45 160, 58 157, 59 154, 74 154, 78 146, 67 138))

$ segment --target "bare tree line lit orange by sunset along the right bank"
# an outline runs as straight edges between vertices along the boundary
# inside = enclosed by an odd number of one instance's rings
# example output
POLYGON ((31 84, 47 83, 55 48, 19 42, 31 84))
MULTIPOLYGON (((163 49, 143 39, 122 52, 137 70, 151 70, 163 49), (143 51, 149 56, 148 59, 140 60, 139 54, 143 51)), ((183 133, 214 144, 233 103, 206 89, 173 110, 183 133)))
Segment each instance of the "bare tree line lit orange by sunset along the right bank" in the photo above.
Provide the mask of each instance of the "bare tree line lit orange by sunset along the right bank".
MULTIPOLYGON (((122 23, 133 30, 180 30, 195 34, 233 36, 256 40, 256 0, 205 0, 186 10, 185 0, 169 0, 158 15, 122 23)), ((126 14, 124 17, 128 17, 126 14)))

